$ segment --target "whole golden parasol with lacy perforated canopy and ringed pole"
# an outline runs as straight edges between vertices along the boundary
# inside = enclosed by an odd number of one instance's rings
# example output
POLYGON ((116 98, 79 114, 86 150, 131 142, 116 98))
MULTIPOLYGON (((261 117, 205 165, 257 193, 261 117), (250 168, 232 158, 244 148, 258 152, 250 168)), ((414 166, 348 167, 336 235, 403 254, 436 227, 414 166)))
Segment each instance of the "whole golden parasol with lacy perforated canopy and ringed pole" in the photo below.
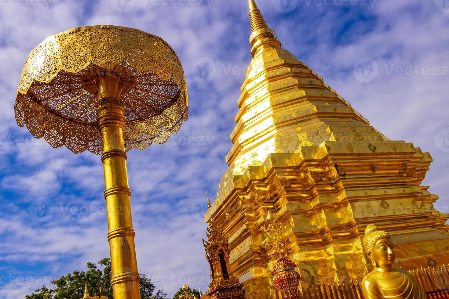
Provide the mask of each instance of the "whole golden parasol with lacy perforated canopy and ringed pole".
POLYGON ((164 143, 187 119, 184 71, 158 36, 79 27, 31 51, 14 105, 19 126, 53 147, 101 154, 114 298, 140 298, 126 152, 164 143))

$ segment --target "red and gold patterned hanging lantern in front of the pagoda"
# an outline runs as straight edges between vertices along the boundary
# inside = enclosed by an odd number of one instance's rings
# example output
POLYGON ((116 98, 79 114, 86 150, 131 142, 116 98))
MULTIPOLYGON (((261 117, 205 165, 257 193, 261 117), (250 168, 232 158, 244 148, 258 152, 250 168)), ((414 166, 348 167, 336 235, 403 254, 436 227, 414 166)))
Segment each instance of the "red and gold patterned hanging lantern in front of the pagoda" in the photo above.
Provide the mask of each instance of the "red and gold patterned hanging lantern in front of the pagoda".
POLYGON ((280 258, 274 265, 273 283, 284 294, 290 298, 298 292, 299 279, 301 276, 295 271, 296 264, 291 260, 280 258))

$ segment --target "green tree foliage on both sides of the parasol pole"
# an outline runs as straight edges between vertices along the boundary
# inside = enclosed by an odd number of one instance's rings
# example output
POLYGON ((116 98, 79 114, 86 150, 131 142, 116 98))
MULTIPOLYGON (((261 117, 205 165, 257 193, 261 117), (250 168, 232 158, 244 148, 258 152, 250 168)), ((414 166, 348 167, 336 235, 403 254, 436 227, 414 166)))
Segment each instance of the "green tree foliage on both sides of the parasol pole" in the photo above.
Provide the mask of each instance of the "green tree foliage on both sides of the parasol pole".
MULTIPOLYGON (((99 295, 101 286, 101 295, 112 299, 111 279, 111 262, 109 258, 104 258, 98 262, 102 269, 98 269, 96 264, 87 263, 87 271, 74 271, 66 276, 61 276, 52 283, 55 285, 53 289, 43 286, 39 290, 35 290, 30 295, 26 295, 25 299, 80 299, 84 296, 84 287, 87 281, 88 291, 91 296, 99 295)), ((150 299, 154 294, 154 299, 167 299, 167 293, 163 290, 157 290, 151 283, 151 279, 145 274, 141 275, 140 290, 141 299, 150 299)))

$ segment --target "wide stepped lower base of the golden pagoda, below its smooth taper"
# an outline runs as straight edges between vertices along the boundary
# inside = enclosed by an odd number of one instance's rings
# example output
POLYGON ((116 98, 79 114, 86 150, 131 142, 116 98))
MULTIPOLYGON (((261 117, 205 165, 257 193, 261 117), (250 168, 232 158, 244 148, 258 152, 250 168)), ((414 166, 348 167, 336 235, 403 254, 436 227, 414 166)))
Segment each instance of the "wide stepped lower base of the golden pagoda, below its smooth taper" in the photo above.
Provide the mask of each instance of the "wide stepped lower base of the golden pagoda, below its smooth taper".
POLYGON ((409 156, 409 165, 419 168, 428 168, 430 158, 410 143, 391 144, 406 153, 378 153, 379 160, 388 156, 388 161, 378 161, 376 168, 381 166, 376 171, 370 169, 372 159, 365 165, 353 162, 370 156, 361 145, 353 145, 352 153, 331 155, 339 145, 330 142, 295 153, 273 153, 242 175, 228 173, 220 185, 226 186, 229 199, 217 213, 225 213, 220 218, 229 231, 229 263, 234 275, 244 279, 249 298, 276 293, 274 261, 258 229, 266 210, 277 210, 278 220, 285 225, 280 240, 298 265, 302 288, 343 282, 370 271, 359 234, 370 221, 392 234, 396 268, 448 263, 449 234, 444 227, 437 229, 440 214, 431 205, 436 196, 413 183, 416 176, 408 176, 407 170, 400 173, 401 156, 409 156), (386 181, 389 186, 382 186, 386 181), (234 220, 242 219, 241 215, 246 220, 243 225, 234 220))

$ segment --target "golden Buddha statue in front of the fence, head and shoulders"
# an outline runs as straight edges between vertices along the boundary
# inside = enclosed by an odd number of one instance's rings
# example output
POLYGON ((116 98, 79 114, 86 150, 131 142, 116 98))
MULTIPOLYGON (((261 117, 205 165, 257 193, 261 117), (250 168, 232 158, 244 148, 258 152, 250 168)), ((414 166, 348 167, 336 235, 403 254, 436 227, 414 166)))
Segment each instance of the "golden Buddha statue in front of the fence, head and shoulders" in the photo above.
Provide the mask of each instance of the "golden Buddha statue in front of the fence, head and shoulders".
POLYGON ((390 234, 370 224, 366 227, 363 245, 366 256, 370 258, 374 266, 374 270, 362 280, 362 292, 365 299, 427 298, 410 273, 392 268, 395 256, 390 234))

